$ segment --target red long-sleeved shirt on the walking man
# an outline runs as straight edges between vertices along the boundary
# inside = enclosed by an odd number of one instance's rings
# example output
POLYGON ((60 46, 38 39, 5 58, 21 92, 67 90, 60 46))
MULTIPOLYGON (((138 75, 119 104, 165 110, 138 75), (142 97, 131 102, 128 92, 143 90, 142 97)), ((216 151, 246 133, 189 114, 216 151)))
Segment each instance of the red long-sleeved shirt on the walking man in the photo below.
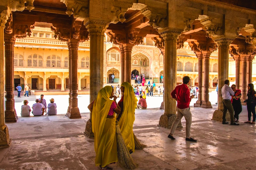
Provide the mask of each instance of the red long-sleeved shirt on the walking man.
POLYGON ((190 92, 187 85, 177 85, 176 88, 171 93, 172 98, 177 98, 177 108, 185 109, 189 108, 190 92))

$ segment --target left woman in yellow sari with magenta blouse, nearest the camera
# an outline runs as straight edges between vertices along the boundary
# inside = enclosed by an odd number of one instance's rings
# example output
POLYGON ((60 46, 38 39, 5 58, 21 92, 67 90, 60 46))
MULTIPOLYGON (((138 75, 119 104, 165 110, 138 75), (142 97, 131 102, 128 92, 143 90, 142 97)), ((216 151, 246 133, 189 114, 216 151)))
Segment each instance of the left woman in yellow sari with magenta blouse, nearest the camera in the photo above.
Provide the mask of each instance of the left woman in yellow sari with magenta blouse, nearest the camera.
POLYGON ((115 113, 119 114, 120 108, 116 99, 113 88, 105 86, 99 91, 97 99, 88 105, 88 109, 92 112, 95 164, 104 170, 111 170, 112 168, 107 165, 118 160, 115 113))

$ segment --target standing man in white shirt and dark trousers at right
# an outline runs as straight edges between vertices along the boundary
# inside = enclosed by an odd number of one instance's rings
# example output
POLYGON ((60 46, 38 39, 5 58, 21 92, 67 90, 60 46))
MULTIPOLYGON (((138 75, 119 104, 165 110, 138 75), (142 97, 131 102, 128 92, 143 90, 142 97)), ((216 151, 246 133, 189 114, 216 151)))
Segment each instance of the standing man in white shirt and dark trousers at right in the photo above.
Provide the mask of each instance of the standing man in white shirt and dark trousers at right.
POLYGON ((221 95, 222 95, 222 103, 223 103, 223 116, 222 116, 222 124, 228 124, 226 122, 226 113, 229 111, 230 113, 230 125, 239 125, 234 122, 234 109, 231 103, 232 96, 234 96, 234 91, 232 88, 229 86, 230 82, 229 80, 224 81, 224 86, 221 88, 221 95))

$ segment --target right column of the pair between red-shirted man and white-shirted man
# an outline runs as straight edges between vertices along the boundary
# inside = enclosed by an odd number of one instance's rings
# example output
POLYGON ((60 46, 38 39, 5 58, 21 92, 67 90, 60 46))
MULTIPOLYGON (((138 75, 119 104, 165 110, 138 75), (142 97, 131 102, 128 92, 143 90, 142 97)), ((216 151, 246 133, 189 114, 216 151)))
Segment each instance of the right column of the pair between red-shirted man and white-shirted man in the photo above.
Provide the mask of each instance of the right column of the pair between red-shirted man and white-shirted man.
POLYGON ((211 52, 206 52, 204 57, 204 96, 201 103, 201 108, 212 108, 209 101, 209 62, 211 52))

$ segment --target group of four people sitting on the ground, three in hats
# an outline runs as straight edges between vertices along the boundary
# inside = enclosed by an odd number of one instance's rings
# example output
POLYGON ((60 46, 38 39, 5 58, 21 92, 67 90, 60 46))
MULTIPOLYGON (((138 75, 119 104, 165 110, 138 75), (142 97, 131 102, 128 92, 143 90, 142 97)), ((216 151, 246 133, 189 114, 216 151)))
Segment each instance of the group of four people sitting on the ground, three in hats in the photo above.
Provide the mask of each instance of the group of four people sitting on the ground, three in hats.
MULTIPOLYGON (((21 116, 26 117, 30 116, 30 106, 28 105, 29 101, 24 100, 23 104, 21 106, 21 116)), ((35 99, 35 103, 32 105, 32 114, 34 116, 41 116, 44 115, 44 113, 47 113, 47 115, 56 115, 57 114, 57 105, 54 103, 54 99, 50 99, 50 103, 46 104, 46 100, 44 99, 44 94, 41 94, 40 99, 35 99), (48 108, 48 112, 47 112, 48 108)))

